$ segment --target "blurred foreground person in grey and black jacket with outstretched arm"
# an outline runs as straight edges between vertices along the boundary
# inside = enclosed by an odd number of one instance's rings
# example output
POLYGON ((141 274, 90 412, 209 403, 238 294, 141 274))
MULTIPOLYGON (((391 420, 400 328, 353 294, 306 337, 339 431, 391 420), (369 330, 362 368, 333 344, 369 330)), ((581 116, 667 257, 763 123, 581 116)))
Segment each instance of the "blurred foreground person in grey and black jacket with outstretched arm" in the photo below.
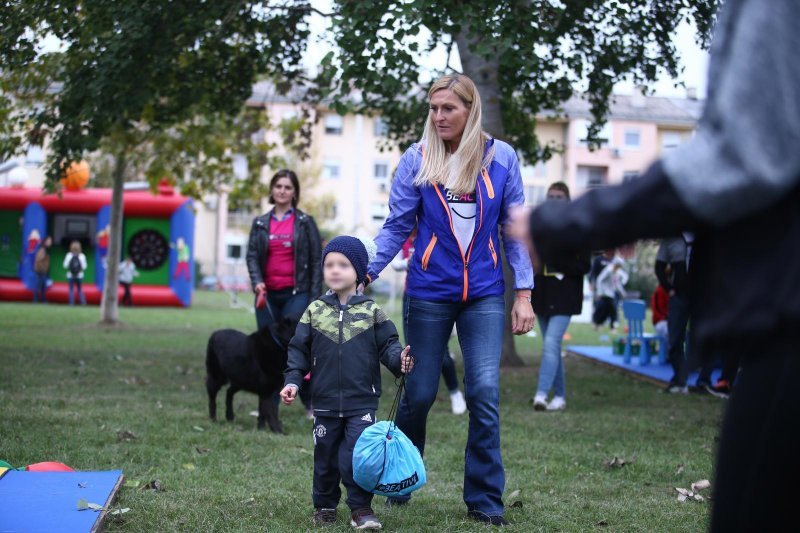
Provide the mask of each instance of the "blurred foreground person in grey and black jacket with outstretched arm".
POLYGON ((518 213, 534 263, 694 230, 693 349, 737 352, 713 531, 792 523, 800 489, 800 2, 728 0, 697 134, 633 182, 518 213))

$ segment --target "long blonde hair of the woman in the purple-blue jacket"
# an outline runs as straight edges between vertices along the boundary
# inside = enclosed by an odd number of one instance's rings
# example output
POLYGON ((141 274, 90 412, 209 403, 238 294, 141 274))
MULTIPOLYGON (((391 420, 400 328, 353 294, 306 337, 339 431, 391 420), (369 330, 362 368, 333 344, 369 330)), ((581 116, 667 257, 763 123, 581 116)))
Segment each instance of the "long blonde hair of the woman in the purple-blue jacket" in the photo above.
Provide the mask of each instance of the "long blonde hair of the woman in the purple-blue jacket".
POLYGON ((494 157, 494 146, 484 155, 489 136, 481 129, 481 96, 472 80, 463 74, 452 74, 436 80, 428 91, 428 99, 442 90, 452 91, 469 109, 467 122, 458 148, 448 158, 447 147, 436 131, 433 116, 428 113, 422 133, 422 168, 414 178, 414 185, 441 183, 456 194, 470 193, 475 190, 481 169, 488 168, 494 157))

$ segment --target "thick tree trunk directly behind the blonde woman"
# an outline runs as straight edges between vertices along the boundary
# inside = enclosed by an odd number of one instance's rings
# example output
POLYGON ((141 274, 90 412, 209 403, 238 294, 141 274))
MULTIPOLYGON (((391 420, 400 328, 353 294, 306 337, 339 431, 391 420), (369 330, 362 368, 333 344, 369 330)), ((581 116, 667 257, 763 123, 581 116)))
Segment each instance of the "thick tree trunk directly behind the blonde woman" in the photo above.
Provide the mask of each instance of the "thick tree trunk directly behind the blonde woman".
MULTIPOLYGON (((464 74, 475 82, 475 86, 481 95, 483 129, 493 137, 502 139, 505 137, 505 128, 503 127, 503 115, 500 112, 500 84, 497 81, 499 61, 496 56, 487 60, 474 54, 470 49, 470 45, 474 44, 477 38, 475 36, 467 37, 468 28, 466 23, 462 27, 464 29, 454 37, 458 45, 458 54, 461 58, 461 67, 464 74)), ((500 355, 500 366, 524 366, 525 363, 517 354, 514 335, 511 333, 511 308, 514 305, 516 295, 514 294, 514 275, 508 266, 502 239, 500 254, 503 264, 503 278, 506 284, 506 327, 503 330, 503 351, 500 355)))

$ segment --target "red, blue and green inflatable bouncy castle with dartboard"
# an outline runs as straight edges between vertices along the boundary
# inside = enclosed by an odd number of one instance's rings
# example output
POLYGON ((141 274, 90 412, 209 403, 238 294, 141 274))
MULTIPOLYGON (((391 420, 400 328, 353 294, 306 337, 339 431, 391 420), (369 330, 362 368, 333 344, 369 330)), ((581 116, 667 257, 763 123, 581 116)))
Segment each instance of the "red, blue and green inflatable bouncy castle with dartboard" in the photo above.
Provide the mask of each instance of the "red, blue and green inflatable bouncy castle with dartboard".
MULTIPOLYGON (((68 178, 70 178, 68 173, 68 178)), ((67 302, 62 267, 72 241, 81 243, 87 268, 83 293, 99 304, 105 282, 111 189, 82 189, 79 173, 61 195, 30 187, 0 187, 0 300, 31 301, 34 256, 53 238, 49 302, 67 302)), ((130 256, 140 275, 131 288, 136 305, 188 307, 194 287, 192 200, 168 185, 154 194, 126 190, 123 196, 122 258, 130 256)), ((121 259, 122 259, 121 258, 121 259)), ((121 291, 120 291, 121 293, 121 291)))

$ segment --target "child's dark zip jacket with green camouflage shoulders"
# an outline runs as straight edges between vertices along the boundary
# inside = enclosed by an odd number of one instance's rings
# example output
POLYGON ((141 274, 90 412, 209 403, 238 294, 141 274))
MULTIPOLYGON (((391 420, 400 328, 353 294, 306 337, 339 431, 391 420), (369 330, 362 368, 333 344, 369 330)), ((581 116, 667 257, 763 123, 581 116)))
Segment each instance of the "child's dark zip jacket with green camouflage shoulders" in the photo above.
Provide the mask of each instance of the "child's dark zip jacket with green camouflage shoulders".
POLYGON ((346 308, 326 294, 303 312, 289 343, 285 384, 300 385, 311 371, 311 404, 331 416, 378 408, 383 363, 400 376, 397 329, 370 298, 355 295, 346 308))

